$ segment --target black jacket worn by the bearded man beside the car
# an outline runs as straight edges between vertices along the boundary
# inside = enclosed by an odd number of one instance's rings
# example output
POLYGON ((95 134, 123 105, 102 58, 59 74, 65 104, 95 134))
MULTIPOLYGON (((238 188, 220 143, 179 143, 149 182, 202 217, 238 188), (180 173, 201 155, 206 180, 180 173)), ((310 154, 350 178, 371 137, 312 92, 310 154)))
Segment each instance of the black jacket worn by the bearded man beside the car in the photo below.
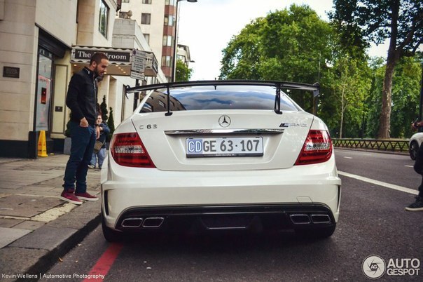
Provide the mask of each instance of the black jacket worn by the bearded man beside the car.
POLYGON ((85 116, 91 126, 97 119, 97 77, 87 67, 72 76, 67 90, 66 105, 71 120, 79 123, 85 116))

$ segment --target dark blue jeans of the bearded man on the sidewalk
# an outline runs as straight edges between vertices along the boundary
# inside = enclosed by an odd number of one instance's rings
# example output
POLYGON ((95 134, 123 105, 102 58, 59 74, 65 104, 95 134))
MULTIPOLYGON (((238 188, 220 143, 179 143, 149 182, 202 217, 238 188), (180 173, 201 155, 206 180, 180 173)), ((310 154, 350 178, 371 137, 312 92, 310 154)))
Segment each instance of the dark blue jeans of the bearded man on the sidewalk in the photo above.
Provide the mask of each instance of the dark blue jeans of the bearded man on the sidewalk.
POLYGON ((79 126, 71 121, 71 155, 64 170, 64 190, 75 190, 76 193, 87 191, 87 172, 95 144, 95 127, 79 126), (76 186, 75 186, 76 182, 76 186))

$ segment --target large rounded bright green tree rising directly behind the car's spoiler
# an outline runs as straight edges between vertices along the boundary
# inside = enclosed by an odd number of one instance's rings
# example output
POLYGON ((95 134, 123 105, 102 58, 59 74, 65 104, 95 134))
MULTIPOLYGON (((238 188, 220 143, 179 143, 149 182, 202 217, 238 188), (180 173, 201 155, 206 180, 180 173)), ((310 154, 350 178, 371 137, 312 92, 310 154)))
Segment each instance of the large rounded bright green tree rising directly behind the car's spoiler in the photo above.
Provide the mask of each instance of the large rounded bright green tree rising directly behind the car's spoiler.
MULTIPOLYGON (((331 59, 332 29, 309 6, 257 18, 233 36, 221 60, 220 79, 261 79, 314 83, 331 59)), ((312 109, 312 95, 291 91, 298 104, 312 109)))

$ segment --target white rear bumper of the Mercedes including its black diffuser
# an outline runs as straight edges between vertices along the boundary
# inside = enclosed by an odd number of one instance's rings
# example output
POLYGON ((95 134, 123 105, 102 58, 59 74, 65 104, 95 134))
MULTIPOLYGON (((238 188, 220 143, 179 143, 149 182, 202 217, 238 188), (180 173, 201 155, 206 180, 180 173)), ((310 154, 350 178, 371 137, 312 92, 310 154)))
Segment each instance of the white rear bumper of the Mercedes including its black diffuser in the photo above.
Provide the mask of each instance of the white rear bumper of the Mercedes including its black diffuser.
POLYGON ((113 159, 108 166, 102 170, 102 213, 111 229, 154 229, 148 226, 160 221, 160 229, 183 226, 181 222, 200 222, 207 229, 213 227, 207 222, 214 221, 221 222, 218 229, 226 228, 226 221, 247 222, 240 229, 257 220, 279 222, 281 227, 292 227, 293 220, 310 226, 338 222, 341 180, 334 157, 319 165, 279 170, 122 170, 113 159))

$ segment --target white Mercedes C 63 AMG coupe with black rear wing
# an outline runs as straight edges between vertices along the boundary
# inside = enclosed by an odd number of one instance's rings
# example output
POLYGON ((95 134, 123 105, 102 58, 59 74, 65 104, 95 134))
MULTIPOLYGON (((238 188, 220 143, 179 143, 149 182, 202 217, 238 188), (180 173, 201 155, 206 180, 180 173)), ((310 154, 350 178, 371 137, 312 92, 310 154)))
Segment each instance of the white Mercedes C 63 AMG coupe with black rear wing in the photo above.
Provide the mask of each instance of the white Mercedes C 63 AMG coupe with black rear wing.
POLYGON ((328 128, 282 81, 188 81, 127 88, 134 114, 102 169, 107 241, 129 232, 292 230, 328 237, 341 180, 328 128))

